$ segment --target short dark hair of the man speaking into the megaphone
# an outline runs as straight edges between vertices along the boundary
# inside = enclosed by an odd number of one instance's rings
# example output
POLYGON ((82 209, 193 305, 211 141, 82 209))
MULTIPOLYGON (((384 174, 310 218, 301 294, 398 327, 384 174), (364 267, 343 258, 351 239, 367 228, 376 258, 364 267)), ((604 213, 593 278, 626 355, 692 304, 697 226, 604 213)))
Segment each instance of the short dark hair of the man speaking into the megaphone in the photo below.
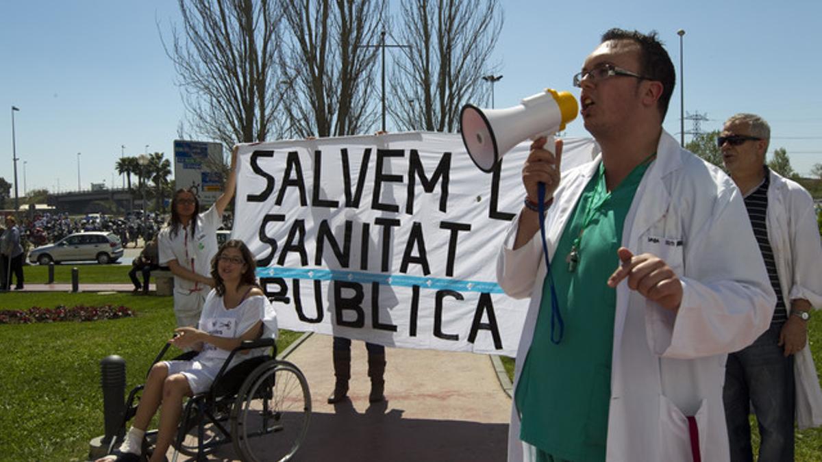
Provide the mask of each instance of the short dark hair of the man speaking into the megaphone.
POLYGON ((673 87, 677 85, 677 72, 674 71, 671 57, 659 41, 657 31, 651 30, 648 34, 643 34, 638 30, 624 30, 617 27, 607 30, 602 37, 602 42, 608 40, 632 40, 640 45, 640 74, 647 76, 663 84, 663 94, 659 96, 658 109, 665 120, 668 103, 671 102, 673 87))

